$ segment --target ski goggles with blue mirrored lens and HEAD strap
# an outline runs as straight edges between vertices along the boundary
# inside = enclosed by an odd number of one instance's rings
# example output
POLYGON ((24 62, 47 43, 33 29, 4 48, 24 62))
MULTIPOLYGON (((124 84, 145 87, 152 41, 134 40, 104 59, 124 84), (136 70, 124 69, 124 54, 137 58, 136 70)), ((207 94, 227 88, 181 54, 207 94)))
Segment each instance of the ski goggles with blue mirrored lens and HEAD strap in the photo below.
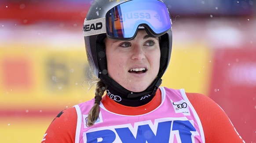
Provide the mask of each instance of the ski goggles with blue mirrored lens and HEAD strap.
POLYGON ((171 17, 159 0, 130 0, 106 13, 106 17, 84 21, 84 36, 106 33, 109 38, 130 40, 140 26, 146 27, 150 36, 165 34, 172 27, 171 17))

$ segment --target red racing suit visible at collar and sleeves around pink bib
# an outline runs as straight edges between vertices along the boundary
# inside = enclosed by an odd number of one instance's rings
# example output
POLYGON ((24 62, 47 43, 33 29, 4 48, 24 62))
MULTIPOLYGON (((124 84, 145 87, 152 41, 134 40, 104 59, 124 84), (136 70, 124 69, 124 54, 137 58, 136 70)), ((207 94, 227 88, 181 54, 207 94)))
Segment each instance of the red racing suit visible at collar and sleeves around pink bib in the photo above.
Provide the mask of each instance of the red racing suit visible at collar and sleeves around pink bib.
MULTIPOLYGON (((219 105, 202 94, 186 95, 201 121, 205 143, 244 143, 219 105)), ((158 89, 152 101, 139 107, 120 105, 108 96, 104 96, 101 102, 107 110, 116 114, 142 115, 161 105, 161 98, 161 90, 158 89)), ((75 143, 76 132, 77 111, 74 107, 67 108, 51 122, 41 143, 75 143)))

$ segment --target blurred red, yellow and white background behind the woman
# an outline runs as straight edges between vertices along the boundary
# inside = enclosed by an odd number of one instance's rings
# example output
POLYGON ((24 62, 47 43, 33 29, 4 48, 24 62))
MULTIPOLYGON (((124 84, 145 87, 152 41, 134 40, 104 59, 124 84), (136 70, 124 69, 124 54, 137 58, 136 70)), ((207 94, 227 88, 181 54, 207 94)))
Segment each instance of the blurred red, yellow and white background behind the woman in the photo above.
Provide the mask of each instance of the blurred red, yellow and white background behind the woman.
MULTIPOLYGON (((0 1, 1 143, 40 143, 60 111, 94 97, 82 33, 91 1, 0 1)), ((173 48, 162 86, 212 98, 256 143, 256 1, 164 1, 173 48)))

